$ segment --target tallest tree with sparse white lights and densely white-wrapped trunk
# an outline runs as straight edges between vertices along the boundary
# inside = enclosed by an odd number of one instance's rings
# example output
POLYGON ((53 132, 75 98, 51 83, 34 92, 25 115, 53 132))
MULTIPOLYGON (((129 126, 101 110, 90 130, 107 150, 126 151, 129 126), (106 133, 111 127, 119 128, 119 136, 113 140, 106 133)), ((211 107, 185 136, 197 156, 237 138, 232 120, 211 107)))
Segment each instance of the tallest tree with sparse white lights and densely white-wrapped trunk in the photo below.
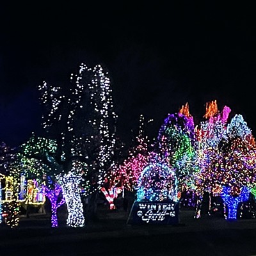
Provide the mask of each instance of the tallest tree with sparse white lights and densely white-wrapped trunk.
POLYGON ((95 202, 113 157, 116 114, 109 74, 100 65, 88 68, 82 63, 79 73, 71 75, 69 86, 61 88, 44 82, 38 89, 47 112, 42 117, 42 125, 47 136, 56 138, 57 142, 56 155, 51 156, 51 163, 56 170, 61 170, 58 177, 68 207, 76 207, 73 210, 68 208, 68 214, 74 216, 73 213, 77 212, 81 218, 81 221, 71 221, 68 216, 68 223, 73 223, 73 227, 75 222, 77 227, 81 227, 84 223, 81 215, 83 205, 72 204, 68 200, 81 198, 83 191, 83 196, 91 196, 89 201, 95 202), (72 163, 77 164, 77 161, 79 166, 86 163, 86 175, 81 168, 78 172, 75 170, 72 163), (83 189, 76 182, 77 190, 76 193, 72 190, 72 199, 68 195, 68 186, 72 186, 70 182, 74 180, 82 182, 83 189), (81 207, 79 211, 78 206, 81 207))

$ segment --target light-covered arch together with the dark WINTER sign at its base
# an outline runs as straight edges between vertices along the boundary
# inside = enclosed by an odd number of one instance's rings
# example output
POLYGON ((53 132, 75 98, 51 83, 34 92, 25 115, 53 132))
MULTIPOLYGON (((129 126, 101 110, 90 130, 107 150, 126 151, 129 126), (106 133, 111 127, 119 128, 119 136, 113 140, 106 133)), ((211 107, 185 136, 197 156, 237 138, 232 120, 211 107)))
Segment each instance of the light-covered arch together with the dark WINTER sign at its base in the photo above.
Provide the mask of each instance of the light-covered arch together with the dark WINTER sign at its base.
POLYGON ((127 223, 177 224, 177 178, 168 164, 159 162, 146 166, 136 190, 137 198, 127 223))

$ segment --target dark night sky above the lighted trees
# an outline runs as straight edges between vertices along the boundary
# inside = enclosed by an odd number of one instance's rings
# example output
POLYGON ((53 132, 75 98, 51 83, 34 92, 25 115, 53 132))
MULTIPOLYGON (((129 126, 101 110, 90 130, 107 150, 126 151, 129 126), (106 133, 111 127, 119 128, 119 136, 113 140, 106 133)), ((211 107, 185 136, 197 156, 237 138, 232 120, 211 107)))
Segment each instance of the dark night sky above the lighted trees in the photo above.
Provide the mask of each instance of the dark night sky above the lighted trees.
POLYGON ((81 62, 108 68, 124 140, 140 114, 157 134, 186 102, 198 122, 215 99, 256 131, 253 6, 205 2, 1 4, 0 141, 40 132, 38 84, 68 84, 81 62))

